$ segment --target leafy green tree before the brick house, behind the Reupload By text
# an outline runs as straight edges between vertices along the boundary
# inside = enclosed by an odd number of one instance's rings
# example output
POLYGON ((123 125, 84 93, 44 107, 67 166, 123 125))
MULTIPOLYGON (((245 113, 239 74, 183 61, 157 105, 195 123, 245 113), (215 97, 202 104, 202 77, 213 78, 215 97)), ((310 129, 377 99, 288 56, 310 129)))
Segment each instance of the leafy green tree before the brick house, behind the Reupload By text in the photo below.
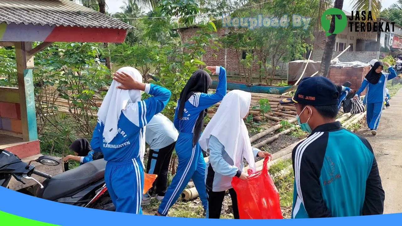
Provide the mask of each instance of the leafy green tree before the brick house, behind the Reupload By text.
MULTIPOLYGON (((297 3, 292 0, 273 0, 269 4, 260 3, 264 2, 253 2, 258 6, 236 10, 231 16, 241 18, 256 17, 262 14, 281 19, 283 15, 311 15, 314 13, 310 0, 299 0, 297 3), (309 7, 307 7, 308 5, 309 7)), ((318 5, 318 1, 315 4, 318 5)), ((225 47, 232 46, 238 52, 239 74, 241 74, 240 68, 246 68, 247 72, 244 70, 244 74, 248 75, 247 80, 251 82, 251 72, 256 71, 255 63, 257 63, 260 67, 258 68, 260 82, 262 82, 262 78, 265 78, 265 82, 272 83, 279 68, 279 62, 298 60, 302 57, 308 46, 304 40, 311 37, 311 29, 304 30, 304 27, 293 27, 291 26, 291 16, 289 19, 290 26, 274 27, 275 25, 273 25, 254 29, 228 28, 228 35, 222 38, 222 43, 225 47), (240 60, 243 51, 246 52, 246 59, 240 60)))

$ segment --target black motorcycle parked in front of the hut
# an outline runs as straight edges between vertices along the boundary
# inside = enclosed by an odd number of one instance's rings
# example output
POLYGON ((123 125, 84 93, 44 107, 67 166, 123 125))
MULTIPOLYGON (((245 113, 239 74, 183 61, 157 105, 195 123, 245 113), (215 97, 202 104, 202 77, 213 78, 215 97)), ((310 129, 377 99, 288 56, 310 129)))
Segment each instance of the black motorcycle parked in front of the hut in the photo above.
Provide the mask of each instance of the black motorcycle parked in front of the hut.
POLYGON ((11 177, 23 184, 26 183, 22 178, 30 179, 39 185, 36 197, 70 205, 115 211, 105 184, 106 161, 104 159, 87 162, 54 177, 35 170, 35 165, 31 162, 48 166, 60 164, 58 160, 50 156, 41 156, 26 163, 11 152, 0 149, 0 186, 7 187, 11 177), (40 183, 31 177, 33 174, 44 177, 46 180, 40 183))

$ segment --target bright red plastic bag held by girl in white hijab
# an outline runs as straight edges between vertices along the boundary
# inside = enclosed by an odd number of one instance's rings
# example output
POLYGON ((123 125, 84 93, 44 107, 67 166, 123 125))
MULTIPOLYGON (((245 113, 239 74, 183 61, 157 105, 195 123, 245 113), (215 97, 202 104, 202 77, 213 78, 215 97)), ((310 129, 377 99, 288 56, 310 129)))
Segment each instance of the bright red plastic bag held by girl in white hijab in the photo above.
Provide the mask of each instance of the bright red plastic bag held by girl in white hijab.
POLYGON ((263 169, 242 180, 234 177, 232 186, 237 193, 240 219, 283 219, 279 193, 268 173, 268 158, 263 169))

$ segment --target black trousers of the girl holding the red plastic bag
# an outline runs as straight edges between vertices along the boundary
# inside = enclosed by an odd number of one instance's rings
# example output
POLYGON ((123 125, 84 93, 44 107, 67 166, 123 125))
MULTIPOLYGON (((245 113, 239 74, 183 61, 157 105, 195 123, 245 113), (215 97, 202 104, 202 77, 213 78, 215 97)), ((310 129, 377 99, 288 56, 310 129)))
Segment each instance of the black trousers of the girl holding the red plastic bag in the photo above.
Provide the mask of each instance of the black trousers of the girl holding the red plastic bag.
MULTIPOLYGON (((233 188, 229 189, 232 198, 232 208, 234 219, 240 219, 237 205, 237 195, 233 188)), ((212 191, 207 188, 208 198, 208 218, 219 219, 221 217, 222 203, 225 198, 225 191, 212 191)))

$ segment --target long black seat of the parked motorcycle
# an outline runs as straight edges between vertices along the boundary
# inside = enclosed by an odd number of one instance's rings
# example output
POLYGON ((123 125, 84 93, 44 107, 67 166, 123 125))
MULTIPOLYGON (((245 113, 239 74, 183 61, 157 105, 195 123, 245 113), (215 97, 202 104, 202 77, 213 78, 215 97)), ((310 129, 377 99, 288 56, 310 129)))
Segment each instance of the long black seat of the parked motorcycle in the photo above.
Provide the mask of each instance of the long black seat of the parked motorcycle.
POLYGON ((38 189, 37 197, 55 201, 74 191, 78 191, 105 176, 106 161, 94 160, 76 168, 55 175, 43 181, 43 189, 38 189))

